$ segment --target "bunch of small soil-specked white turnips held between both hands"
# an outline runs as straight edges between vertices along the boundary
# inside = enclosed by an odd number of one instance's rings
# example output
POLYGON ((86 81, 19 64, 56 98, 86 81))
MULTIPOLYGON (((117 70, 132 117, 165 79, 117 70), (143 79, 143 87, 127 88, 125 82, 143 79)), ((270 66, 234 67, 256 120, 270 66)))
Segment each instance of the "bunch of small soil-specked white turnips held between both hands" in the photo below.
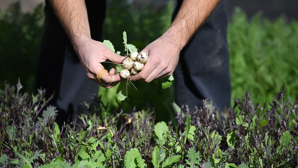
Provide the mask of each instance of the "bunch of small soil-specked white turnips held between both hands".
POLYGON ((141 71, 145 62, 148 60, 148 54, 144 51, 132 52, 130 57, 123 59, 123 69, 120 71, 120 76, 127 79, 131 74, 135 75, 138 71, 141 71))

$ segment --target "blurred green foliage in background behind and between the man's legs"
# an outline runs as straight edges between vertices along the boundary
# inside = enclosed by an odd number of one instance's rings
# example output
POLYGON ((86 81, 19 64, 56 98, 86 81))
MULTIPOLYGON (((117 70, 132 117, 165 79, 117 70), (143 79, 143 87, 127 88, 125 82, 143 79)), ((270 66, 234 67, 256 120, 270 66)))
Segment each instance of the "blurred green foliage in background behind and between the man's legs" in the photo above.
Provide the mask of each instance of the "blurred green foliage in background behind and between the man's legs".
MULTIPOLYGON (((160 9, 150 10, 150 5, 136 8, 126 1, 113 0, 108 4, 103 39, 110 40, 116 50, 123 50, 122 32, 126 31, 128 43, 142 49, 168 28, 173 8, 173 1, 160 9)), ((15 83, 21 77, 25 91, 34 91, 43 7, 38 5, 32 12, 22 13, 20 3, 15 3, 0 13, 0 89, 4 89, 5 80, 15 83)), ((283 16, 269 21, 261 13, 248 20, 245 13, 236 9, 228 27, 231 103, 234 96, 240 97, 247 90, 254 100, 264 103, 274 96, 283 82, 288 88, 287 96, 291 101, 297 100, 297 37, 297 21, 289 21, 283 16)), ((173 87, 161 89, 160 84, 153 82, 136 82, 134 85, 138 90, 129 86, 130 101, 124 102, 124 108, 136 106, 141 109, 152 105, 159 114, 165 111, 173 114, 170 107, 174 100, 173 87), (150 95, 159 96, 148 96, 148 90, 150 95)), ((100 89, 103 101, 110 102, 111 108, 118 107, 114 89, 100 89)))

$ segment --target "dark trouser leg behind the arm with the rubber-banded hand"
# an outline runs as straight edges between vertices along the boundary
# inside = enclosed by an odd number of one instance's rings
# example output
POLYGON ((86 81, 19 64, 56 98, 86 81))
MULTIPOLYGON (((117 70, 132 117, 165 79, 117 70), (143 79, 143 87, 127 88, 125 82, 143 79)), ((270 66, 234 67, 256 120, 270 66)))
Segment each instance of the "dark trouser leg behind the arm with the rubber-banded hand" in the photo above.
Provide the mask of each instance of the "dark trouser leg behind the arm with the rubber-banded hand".
MULTIPOLYGON (((86 0, 91 38, 100 41, 105 18, 106 1, 86 0)), ((49 105, 56 106, 61 125, 83 101, 91 100, 98 85, 89 80, 80 60, 58 21, 50 3, 45 1, 45 27, 36 72, 36 89, 47 89, 48 98, 55 92, 49 105)))

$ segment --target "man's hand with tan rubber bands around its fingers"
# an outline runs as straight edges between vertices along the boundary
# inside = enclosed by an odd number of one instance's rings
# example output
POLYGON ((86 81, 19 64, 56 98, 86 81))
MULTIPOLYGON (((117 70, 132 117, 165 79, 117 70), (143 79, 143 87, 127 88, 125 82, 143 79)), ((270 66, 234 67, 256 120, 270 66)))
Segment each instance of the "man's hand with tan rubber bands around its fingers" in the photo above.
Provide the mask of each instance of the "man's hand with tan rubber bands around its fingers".
POLYGON ((80 46, 77 51, 81 64, 90 80, 93 80, 105 88, 111 88, 125 80, 120 77, 119 73, 115 75, 115 68, 111 68, 100 81, 95 80, 97 73, 105 69, 103 65, 101 65, 102 62, 110 60, 111 62, 122 64, 124 56, 114 53, 102 42, 92 40, 89 37, 84 38, 83 44, 80 46))

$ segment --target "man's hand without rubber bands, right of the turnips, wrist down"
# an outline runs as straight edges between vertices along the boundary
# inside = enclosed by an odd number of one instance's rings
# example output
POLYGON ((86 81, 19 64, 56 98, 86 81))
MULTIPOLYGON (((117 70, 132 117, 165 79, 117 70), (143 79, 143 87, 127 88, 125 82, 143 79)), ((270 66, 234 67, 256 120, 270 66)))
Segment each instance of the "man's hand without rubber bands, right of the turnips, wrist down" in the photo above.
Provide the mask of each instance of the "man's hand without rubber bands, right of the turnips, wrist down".
POLYGON ((172 39, 161 36, 142 51, 145 51, 149 58, 142 71, 129 78, 131 81, 142 80, 151 82, 173 74, 179 60, 180 48, 172 39))

